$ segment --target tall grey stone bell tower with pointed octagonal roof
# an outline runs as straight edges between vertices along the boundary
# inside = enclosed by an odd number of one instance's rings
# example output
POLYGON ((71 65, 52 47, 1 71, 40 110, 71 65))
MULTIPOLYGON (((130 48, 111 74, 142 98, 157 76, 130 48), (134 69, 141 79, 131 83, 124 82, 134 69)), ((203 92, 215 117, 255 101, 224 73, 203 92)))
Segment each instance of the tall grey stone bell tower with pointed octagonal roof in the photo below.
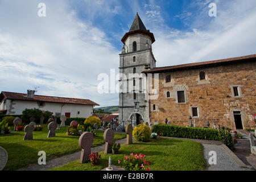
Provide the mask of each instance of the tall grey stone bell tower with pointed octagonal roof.
POLYGON ((135 127, 140 123, 150 123, 147 84, 142 71, 155 68, 156 60, 152 53, 155 38, 137 13, 129 32, 121 41, 118 118, 121 126, 132 123, 135 127))

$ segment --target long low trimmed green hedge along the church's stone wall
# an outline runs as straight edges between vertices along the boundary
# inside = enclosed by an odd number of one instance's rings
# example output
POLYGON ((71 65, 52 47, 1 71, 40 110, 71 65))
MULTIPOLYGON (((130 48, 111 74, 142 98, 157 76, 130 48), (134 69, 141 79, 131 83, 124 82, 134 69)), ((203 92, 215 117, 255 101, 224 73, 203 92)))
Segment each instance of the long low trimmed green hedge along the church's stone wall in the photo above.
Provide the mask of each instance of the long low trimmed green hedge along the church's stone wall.
MULTIPOLYGON (((152 133, 163 133, 164 137, 217 140, 225 143, 224 136, 216 129, 158 124, 152 127, 152 133)), ((233 150, 234 142, 232 135, 226 130, 225 137, 226 146, 233 150)))

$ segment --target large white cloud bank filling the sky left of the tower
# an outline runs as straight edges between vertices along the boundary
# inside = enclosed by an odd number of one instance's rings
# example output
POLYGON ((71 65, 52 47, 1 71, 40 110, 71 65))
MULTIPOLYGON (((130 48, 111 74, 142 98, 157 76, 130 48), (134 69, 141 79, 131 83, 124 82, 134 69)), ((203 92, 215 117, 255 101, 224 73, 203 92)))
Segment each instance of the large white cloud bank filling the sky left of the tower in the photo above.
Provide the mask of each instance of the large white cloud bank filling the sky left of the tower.
POLYGON ((97 93, 97 75, 119 63, 105 32, 81 22, 64 1, 46 1, 47 16, 39 18, 38 3, 0 2, 1 90, 40 86, 37 94, 117 104, 97 93))

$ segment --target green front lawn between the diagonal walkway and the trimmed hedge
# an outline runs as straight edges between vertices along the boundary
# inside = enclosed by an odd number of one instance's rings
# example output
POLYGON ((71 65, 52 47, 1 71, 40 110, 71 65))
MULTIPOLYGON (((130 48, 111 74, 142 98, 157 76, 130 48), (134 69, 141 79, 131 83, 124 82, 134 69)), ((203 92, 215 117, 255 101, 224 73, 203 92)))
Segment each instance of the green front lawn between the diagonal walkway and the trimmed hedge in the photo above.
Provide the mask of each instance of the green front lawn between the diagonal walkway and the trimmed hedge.
POLYGON ((169 139, 163 140, 151 139, 150 142, 134 142, 127 145, 122 144, 119 154, 104 154, 100 152, 101 159, 98 166, 85 163, 80 164, 79 160, 65 164, 64 166, 51 169, 52 171, 100 171, 108 167, 109 156, 111 156, 112 164, 119 166, 118 160, 122 160, 123 156, 135 154, 146 155, 151 165, 150 171, 197 171, 204 170, 207 163, 203 155, 203 146, 200 143, 190 140, 169 139))

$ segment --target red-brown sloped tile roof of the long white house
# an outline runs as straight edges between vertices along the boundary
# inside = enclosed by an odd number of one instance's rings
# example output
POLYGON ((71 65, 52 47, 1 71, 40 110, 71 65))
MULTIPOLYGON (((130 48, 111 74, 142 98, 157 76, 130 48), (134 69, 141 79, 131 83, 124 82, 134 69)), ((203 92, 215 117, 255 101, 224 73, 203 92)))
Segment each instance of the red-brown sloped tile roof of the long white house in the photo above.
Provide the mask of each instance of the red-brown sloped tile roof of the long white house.
POLYGON ((90 101, 88 99, 81 98, 67 98, 67 97, 54 97, 54 96, 39 96, 34 95, 34 98, 27 98, 25 93, 15 93, 15 92, 5 92, 0 94, 0 101, 3 98, 8 100, 20 100, 20 101, 37 101, 37 102, 53 102, 53 103, 63 103, 63 104, 81 104, 81 105, 97 105, 99 104, 90 101))

